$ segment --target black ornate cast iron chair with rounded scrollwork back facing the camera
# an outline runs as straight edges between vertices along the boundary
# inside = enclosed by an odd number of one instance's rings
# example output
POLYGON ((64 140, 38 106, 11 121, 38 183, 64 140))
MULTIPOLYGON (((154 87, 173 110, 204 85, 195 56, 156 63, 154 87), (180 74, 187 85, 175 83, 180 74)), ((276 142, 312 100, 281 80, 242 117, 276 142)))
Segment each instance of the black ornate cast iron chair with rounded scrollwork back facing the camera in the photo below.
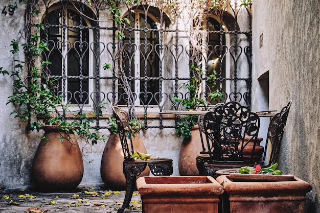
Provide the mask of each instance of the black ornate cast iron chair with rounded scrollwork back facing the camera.
POLYGON ((203 117, 205 140, 209 160, 199 165, 200 175, 215 176, 220 169, 238 168, 257 164, 254 157, 258 132, 259 116, 238 102, 219 105, 203 117), (250 154, 243 151, 252 143, 250 154))

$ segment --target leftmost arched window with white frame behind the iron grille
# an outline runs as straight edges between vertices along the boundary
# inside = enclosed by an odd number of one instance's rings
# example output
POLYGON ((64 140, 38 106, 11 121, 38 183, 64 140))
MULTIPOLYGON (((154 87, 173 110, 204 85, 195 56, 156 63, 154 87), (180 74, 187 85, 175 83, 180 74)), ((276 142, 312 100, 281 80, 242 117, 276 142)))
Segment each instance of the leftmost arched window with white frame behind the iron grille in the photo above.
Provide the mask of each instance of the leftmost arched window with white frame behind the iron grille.
POLYGON ((41 31, 41 39, 49 43, 45 60, 51 62, 48 72, 58 79, 57 93, 62 94, 64 104, 89 105, 90 80, 93 65, 90 64, 89 43, 92 32, 88 21, 77 9, 55 6, 49 9, 42 21, 49 26, 41 31))

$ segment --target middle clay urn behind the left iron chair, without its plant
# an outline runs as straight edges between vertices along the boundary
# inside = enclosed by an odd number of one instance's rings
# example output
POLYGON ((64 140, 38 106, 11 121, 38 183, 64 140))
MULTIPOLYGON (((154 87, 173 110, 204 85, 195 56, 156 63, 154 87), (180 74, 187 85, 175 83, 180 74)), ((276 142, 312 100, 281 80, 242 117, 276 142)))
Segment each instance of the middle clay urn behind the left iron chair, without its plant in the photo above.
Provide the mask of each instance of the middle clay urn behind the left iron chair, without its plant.
MULTIPOLYGON (((128 139, 128 144, 130 140, 128 139)), ((142 138, 138 133, 132 137, 134 151, 147 153, 142 138)), ((130 146, 130 144, 129 144, 130 146)), ((118 134, 110 134, 103 150, 101 159, 101 177, 104 184, 111 190, 126 190, 126 178, 123 174, 123 150, 118 134)), ((147 167, 140 176, 149 176, 150 169, 147 167)), ((140 177, 139 176, 139 177, 140 177)))

